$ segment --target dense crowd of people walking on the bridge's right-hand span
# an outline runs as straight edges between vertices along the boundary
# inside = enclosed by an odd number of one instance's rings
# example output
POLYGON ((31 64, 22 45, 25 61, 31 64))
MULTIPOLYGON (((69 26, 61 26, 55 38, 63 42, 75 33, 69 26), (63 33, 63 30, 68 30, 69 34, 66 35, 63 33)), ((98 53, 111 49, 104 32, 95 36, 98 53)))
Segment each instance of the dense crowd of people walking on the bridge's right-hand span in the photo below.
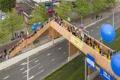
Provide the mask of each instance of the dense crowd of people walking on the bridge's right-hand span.
POLYGON ((85 33, 82 29, 77 28, 74 25, 71 25, 70 23, 64 21, 60 17, 55 16, 55 22, 57 22, 60 26, 67 29, 69 32, 71 32, 74 36, 78 37, 80 40, 85 42, 87 45, 92 47, 98 53, 100 53, 103 56, 106 56, 108 59, 110 59, 112 54, 114 53, 112 49, 105 46, 101 41, 98 41, 92 38, 87 33, 85 33))

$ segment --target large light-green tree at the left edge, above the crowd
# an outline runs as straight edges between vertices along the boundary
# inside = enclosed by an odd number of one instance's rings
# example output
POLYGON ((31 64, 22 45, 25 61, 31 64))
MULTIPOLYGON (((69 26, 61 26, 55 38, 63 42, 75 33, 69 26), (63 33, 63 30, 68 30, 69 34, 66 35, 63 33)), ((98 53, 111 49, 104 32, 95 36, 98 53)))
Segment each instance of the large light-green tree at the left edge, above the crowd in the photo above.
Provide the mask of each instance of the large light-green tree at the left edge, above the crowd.
POLYGON ((1 21, 1 27, 8 29, 10 32, 19 30, 23 24, 23 16, 18 14, 16 10, 8 13, 8 17, 1 21))

